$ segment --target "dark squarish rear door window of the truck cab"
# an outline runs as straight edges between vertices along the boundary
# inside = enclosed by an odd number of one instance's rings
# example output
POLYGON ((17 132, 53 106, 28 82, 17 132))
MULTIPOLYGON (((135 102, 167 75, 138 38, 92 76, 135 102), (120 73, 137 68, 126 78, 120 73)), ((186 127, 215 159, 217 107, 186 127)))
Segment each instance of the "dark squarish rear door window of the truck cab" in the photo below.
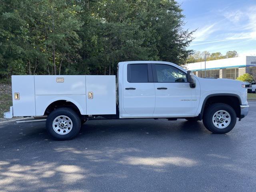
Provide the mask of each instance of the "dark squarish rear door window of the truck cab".
POLYGON ((145 83, 148 82, 148 64, 129 64, 128 82, 145 83))

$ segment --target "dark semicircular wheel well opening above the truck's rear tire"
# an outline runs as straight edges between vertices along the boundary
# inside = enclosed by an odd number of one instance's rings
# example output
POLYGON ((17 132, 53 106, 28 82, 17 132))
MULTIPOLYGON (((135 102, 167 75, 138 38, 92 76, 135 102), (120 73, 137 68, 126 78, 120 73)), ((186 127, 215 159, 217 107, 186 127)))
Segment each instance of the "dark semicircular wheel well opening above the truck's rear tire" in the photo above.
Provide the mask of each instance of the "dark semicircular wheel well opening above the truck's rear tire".
POLYGON ((77 112, 79 115, 81 115, 78 107, 74 103, 67 101, 67 100, 58 100, 58 101, 52 102, 44 111, 44 115, 49 115, 53 110, 62 108, 62 107, 71 108, 75 112, 77 112))

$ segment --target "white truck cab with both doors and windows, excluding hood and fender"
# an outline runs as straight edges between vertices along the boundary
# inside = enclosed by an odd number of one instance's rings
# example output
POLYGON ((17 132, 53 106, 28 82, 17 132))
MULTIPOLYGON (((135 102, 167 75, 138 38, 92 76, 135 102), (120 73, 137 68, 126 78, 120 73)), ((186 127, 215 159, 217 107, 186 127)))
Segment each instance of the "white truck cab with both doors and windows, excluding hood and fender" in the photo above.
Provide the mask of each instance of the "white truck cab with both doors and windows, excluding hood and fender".
MULTIPOLYGON (((195 78, 196 80, 196 78, 195 78)), ((120 118, 194 117, 200 85, 190 88, 187 71, 168 62, 118 64, 120 118)))

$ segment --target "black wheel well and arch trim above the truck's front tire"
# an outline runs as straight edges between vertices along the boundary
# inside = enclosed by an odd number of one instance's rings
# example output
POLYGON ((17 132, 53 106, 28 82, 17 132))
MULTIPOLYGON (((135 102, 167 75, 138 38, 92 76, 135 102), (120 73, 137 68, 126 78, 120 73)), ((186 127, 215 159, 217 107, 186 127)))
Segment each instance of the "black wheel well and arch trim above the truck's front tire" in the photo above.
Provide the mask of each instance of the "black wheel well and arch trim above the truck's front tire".
POLYGON ((240 118, 241 109, 240 109, 240 100, 237 96, 228 96, 228 95, 218 95, 218 96, 211 96, 206 99, 203 104, 203 108, 201 114, 203 114, 204 110, 214 103, 225 103, 231 106, 235 112, 236 116, 240 118))

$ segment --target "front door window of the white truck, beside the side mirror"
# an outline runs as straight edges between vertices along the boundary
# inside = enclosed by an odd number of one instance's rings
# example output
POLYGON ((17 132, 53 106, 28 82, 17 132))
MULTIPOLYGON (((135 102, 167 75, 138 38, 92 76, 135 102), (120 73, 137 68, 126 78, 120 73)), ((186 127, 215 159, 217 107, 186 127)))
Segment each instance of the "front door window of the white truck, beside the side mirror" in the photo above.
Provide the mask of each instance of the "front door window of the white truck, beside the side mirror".
POLYGON ((158 82, 187 82, 186 74, 175 67, 155 64, 158 82))

